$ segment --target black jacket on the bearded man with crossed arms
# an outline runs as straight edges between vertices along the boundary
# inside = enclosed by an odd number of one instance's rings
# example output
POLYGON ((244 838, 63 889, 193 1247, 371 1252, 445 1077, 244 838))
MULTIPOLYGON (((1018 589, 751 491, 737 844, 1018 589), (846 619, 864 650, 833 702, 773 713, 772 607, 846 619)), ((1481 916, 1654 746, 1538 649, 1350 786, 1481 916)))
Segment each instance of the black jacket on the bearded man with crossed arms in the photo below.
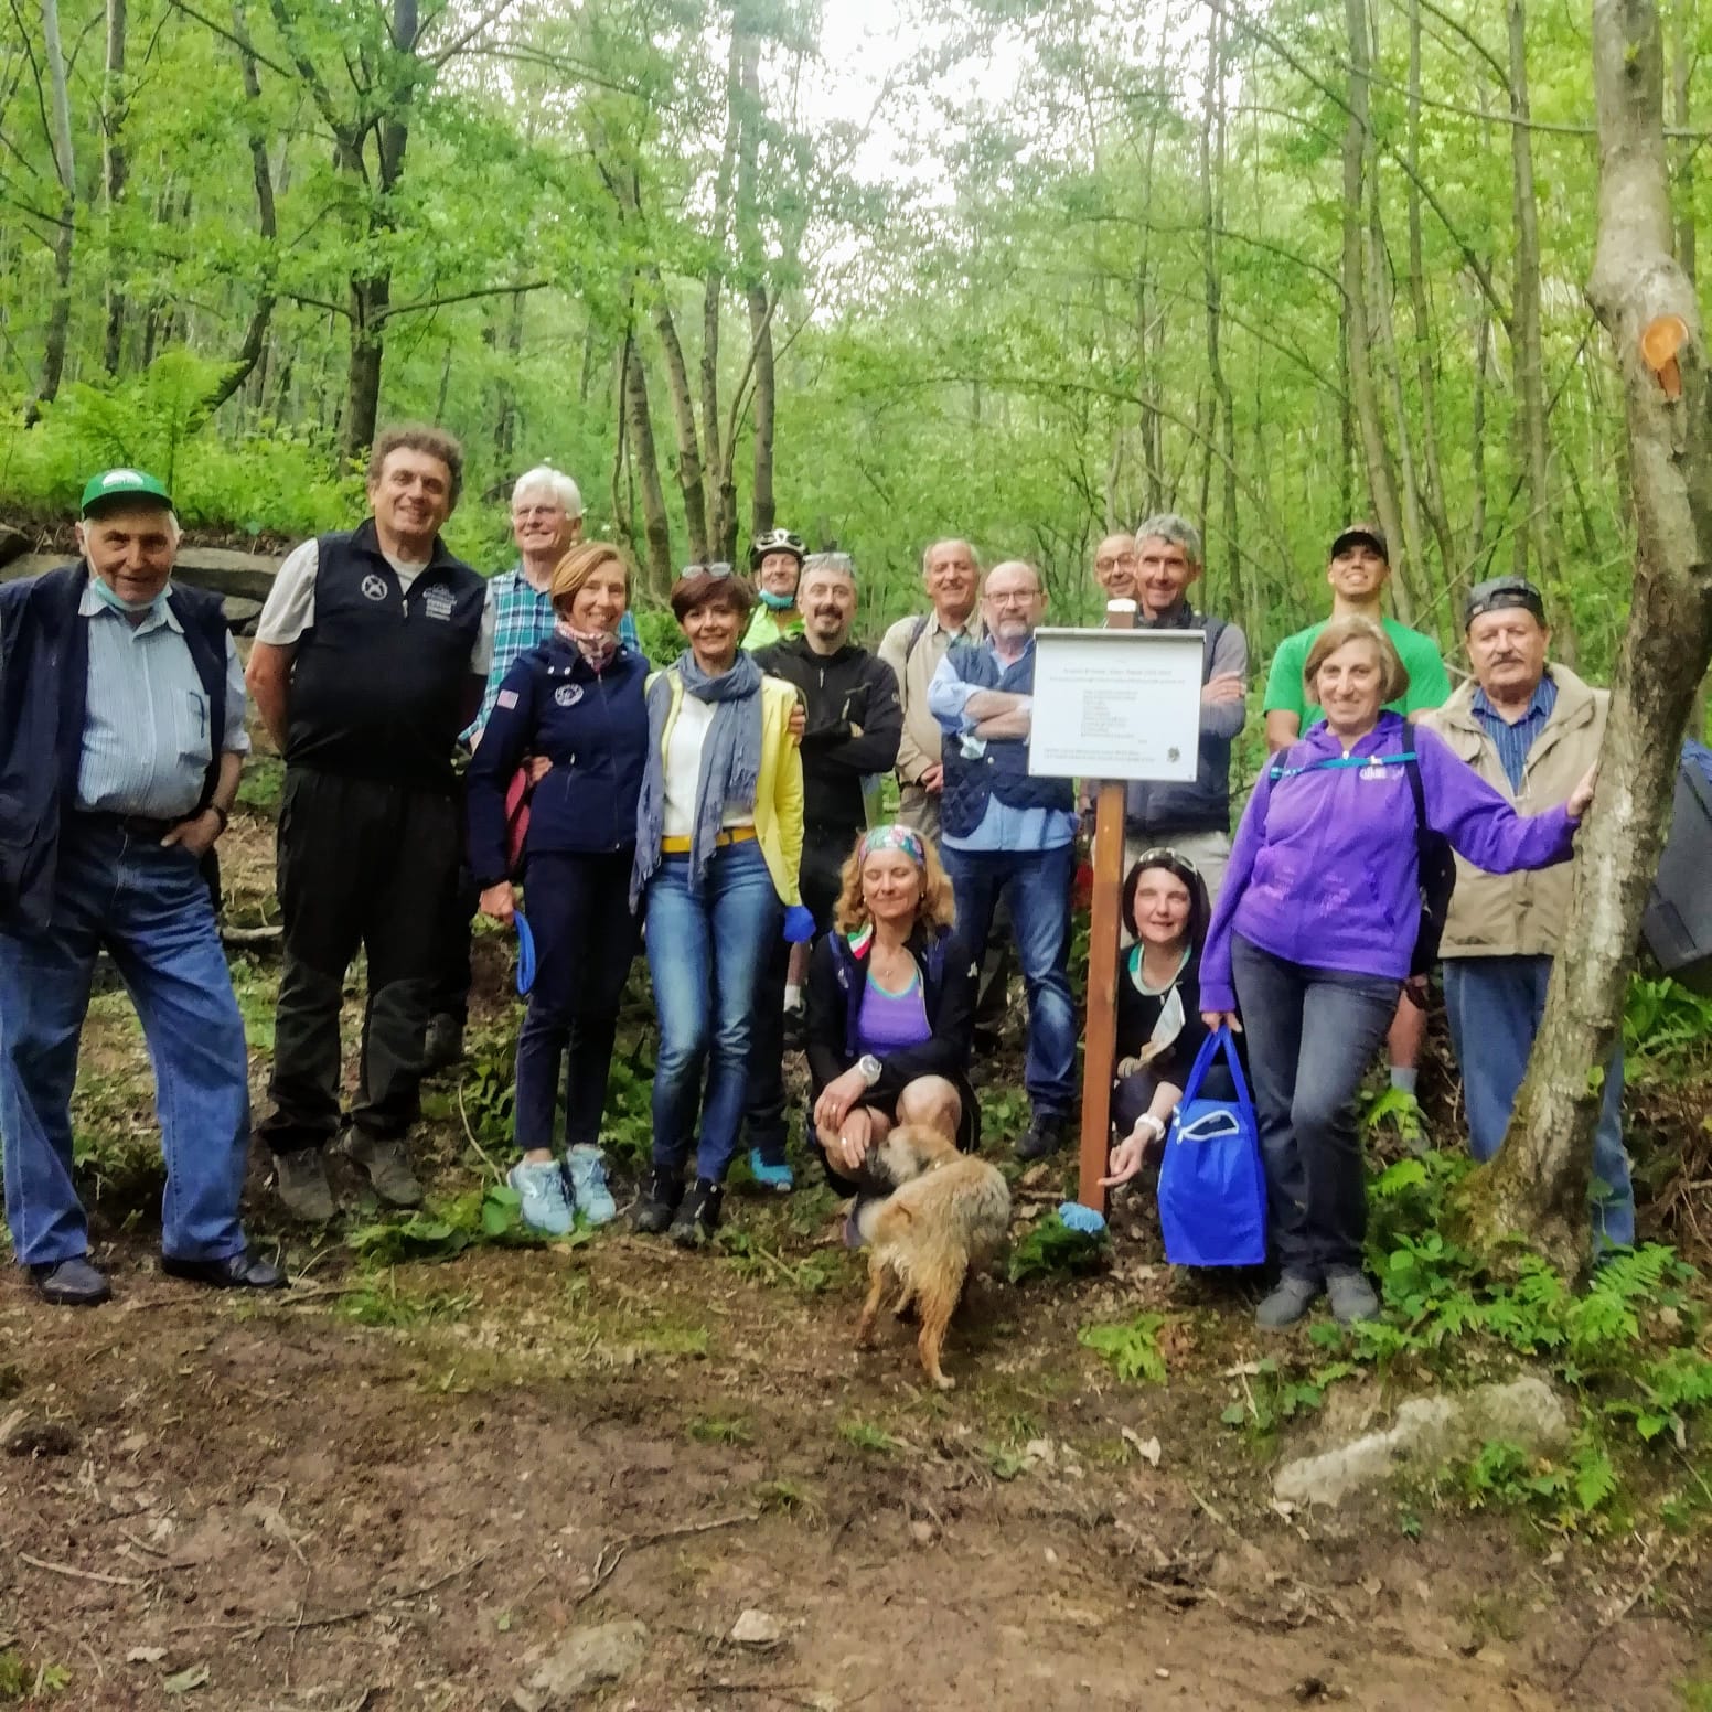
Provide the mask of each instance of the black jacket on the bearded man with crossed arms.
POLYGON ((817 654, 806 637, 757 649, 755 664, 784 678, 806 704, 803 823, 854 834, 868 818, 863 776, 890 772, 904 734, 892 668, 849 642, 835 654, 817 654))

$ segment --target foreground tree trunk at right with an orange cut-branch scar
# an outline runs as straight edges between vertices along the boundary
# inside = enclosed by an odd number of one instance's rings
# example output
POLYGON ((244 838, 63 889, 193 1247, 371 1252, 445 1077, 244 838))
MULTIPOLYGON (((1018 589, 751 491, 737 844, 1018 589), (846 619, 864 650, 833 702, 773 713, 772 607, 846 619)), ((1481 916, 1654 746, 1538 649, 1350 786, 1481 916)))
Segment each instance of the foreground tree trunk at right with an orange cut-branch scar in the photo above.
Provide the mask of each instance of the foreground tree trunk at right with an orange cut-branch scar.
POLYGON ((1635 936, 1671 810, 1678 740, 1712 657, 1712 378, 1693 282, 1673 255, 1656 0, 1594 0, 1599 238, 1589 298, 1623 375, 1638 527, 1599 801, 1546 1015, 1498 1157, 1462 1192, 1472 1234, 1520 1231, 1565 1272, 1589 1258, 1587 1186, 1602 1067, 1623 1025, 1635 936), (1679 329, 1654 368, 1642 334, 1679 329))

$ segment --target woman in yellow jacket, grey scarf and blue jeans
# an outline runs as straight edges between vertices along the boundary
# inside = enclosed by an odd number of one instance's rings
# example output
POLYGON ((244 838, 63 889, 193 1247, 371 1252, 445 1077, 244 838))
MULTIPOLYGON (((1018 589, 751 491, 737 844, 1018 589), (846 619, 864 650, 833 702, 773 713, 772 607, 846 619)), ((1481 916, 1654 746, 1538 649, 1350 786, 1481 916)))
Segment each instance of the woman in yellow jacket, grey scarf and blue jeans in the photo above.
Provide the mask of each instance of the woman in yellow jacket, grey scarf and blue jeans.
POLYGON ((743 1121, 755 976, 781 926, 793 940, 813 931, 796 889, 803 854, 803 758, 791 734, 796 692, 738 647, 753 604, 729 565, 692 565, 671 591, 690 649, 647 685, 649 762, 630 899, 647 901, 659 1061, 654 1174, 635 1228, 657 1234, 669 1226, 687 1248, 705 1243, 719 1224, 743 1121), (692 1140, 695 1186, 687 1195, 692 1140))

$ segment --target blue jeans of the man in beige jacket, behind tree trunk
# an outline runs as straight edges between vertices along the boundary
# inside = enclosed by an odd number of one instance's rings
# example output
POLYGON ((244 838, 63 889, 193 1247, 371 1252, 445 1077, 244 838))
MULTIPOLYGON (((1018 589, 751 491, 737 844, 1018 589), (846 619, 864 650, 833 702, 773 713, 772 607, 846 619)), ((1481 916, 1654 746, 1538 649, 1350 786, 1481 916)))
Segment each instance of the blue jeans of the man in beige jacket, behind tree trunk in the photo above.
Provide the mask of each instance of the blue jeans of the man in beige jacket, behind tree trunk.
MULTIPOLYGON (((1503 1144, 1546 1014, 1549 957, 1447 957, 1445 1010, 1469 1109, 1469 1152, 1486 1161, 1503 1144)), ((1635 1243, 1635 1188, 1623 1152, 1623 1043, 1606 1070, 1594 1130, 1594 1231, 1602 1246, 1635 1243)))

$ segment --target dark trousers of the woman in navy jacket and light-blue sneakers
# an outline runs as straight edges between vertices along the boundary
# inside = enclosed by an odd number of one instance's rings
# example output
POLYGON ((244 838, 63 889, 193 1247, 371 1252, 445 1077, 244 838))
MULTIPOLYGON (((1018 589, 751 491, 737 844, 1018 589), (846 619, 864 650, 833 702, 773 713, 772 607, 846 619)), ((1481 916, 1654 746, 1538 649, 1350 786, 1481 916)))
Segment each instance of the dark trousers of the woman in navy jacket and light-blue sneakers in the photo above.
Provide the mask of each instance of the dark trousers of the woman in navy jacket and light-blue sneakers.
POLYGON ((565 1145, 601 1138, 618 1002, 639 940, 630 914, 633 861, 633 849, 529 858, 524 914, 534 933, 536 981, 517 1036, 514 1133, 520 1152, 553 1145, 558 1067, 567 1051, 565 1145))

